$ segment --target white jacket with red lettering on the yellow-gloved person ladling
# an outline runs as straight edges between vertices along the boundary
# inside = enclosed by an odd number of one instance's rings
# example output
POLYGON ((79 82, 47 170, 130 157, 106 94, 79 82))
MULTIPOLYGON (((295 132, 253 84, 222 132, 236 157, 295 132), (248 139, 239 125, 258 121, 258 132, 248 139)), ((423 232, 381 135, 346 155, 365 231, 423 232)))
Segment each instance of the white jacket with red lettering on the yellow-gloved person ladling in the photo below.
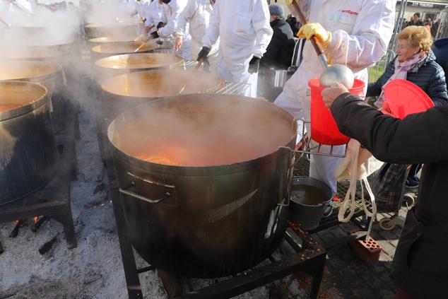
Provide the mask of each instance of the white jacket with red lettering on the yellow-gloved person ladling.
MULTIPOLYGON (((367 66, 386 53, 394 30, 396 0, 308 0, 310 23, 320 23, 333 37, 326 55, 333 64, 347 64, 355 78, 365 81, 367 66)), ((284 92, 299 102, 308 98, 307 82, 323 68, 310 42, 303 50, 303 62, 285 83, 284 92)), ((309 109, 310 103, 305 102, 309 109)))

